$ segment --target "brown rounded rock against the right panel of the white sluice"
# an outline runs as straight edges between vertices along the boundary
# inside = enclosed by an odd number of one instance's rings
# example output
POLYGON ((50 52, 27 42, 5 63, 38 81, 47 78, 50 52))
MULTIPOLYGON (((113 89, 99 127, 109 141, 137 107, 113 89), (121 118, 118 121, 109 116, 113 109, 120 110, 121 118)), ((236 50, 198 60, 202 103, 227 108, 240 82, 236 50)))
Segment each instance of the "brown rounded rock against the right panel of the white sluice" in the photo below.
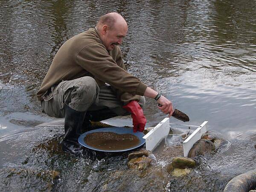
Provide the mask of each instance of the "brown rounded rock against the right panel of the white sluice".
POLYGON ((215 145, 210 140, 198 140, 189 151, 189 157, 196 157, 215 150, 215 145))

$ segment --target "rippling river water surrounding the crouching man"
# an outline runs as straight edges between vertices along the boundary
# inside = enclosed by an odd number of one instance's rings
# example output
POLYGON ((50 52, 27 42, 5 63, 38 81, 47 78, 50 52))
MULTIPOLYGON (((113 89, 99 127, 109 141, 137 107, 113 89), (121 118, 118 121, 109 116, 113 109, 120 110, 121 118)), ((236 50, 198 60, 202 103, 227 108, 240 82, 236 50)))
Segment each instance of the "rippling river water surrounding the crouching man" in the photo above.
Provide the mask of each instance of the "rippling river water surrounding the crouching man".
MULTIPOLYGON (((252 0, 0 1, 1 191, 221 191, 255 168, 255 15, 252 0), (61 44, 107 12, 127 20, 128 71, 230 143, 186 177, 128 170, 127 154, 63 154, 63 121, 41 113, 35 94, 61 44)), ((166 115, 146 102, 153 126, 166 115)), ((128 116, 109 122, 131 125, 128 116)))

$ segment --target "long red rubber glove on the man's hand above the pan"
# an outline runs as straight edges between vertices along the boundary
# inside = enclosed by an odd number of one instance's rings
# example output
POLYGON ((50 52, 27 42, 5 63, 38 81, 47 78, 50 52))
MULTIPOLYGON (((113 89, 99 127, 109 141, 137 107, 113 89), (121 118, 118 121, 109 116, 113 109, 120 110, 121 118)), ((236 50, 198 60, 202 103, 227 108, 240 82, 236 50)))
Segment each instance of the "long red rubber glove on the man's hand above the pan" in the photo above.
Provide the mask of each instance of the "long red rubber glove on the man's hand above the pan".
POLYGON ((127 105, 123 106, 123 108, 131 113, 133 121, 132 124, 134 125, 134 132, 144 131, 147 119, 143 115, 143 110, 140 107, 139 103, 137 101, 131 101, 127 105))

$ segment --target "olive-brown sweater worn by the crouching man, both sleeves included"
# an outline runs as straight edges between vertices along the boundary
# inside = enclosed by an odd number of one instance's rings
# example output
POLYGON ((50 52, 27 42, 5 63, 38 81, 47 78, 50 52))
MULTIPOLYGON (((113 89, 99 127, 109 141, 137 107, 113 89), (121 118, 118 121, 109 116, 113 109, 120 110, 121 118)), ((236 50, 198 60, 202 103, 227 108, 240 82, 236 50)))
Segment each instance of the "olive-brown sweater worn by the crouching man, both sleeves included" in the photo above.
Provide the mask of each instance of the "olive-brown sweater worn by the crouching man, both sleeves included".
POLYGON ((107 51, 96 29, 91 28, 66 41, 55 55, 37 93, 38 100, 52 86, 61 81, 83 76, 93 77, 100 86, 110 84, 123 102, 139 100, 147 86, 126 72, 122 52, 118 46, 107 51))

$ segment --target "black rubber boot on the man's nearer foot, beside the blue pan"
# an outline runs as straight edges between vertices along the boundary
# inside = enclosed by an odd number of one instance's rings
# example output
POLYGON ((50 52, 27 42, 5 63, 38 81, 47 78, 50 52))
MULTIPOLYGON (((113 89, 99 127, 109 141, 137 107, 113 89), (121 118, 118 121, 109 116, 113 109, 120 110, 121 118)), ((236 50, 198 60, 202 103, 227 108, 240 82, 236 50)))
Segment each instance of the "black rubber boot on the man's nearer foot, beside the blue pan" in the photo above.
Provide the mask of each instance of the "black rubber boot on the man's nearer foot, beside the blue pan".
POLYGON ((79 112, 65 105, 65 135, 60 142, 63 151, 72 155, 79 155, 82 152, 78 137, 83 133, 85 114, 86 112, 79 112))

